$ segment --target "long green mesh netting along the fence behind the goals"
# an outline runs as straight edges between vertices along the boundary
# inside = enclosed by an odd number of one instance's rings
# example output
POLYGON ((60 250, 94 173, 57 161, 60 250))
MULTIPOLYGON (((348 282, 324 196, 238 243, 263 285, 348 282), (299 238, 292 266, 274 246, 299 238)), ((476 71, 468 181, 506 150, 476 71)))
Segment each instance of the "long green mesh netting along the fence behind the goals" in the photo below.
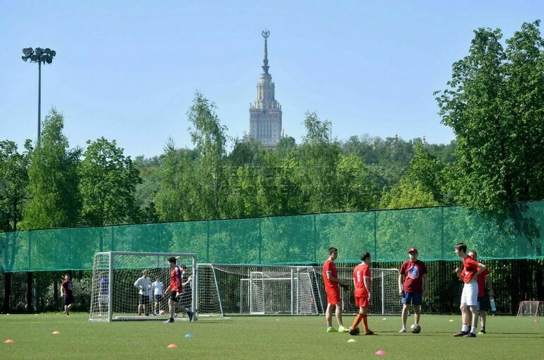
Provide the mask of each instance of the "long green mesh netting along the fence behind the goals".
POLYGON ((1 233, 2 270, 86 270, 98 251, 197 253, 206 263, 321 263, 338 260, 454 260, 463 241, 485 259, 544 258, 544 202, 517 205, 516 216, 482 216, 461 207, 375 210, 1 233))

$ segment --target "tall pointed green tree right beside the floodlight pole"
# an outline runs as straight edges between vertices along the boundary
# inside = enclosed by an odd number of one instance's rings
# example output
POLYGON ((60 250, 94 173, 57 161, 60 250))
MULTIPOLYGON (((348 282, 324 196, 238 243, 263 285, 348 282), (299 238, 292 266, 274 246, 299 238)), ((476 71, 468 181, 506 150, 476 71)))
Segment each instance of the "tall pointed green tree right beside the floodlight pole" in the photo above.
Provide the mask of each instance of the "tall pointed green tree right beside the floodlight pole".
POLYGON ((62 133, 64 118, 52 109, 42 124, 40 143, 30 152, 28 194, 22 229, 74 227, 78 224, 81 198, 77 167, 81 150, 69 149, 62 133))

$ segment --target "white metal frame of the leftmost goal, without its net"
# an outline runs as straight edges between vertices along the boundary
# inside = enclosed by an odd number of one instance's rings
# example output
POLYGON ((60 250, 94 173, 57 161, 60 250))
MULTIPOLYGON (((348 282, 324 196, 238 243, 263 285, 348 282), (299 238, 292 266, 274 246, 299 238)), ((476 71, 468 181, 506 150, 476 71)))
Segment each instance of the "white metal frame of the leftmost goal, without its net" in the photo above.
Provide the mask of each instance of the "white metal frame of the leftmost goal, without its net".
MULTIPOLYGON (((165 318, 159 317, 159 316, 119 316, 114 317, 114 311, 113 311, 113 297, 114 297, 114 270, 115 270, 115 257, 116 256, 159 256, 164 257, 164 267, 167 272, 170 272, 170 269, 167 268, 167 258, 170 258, 170 256, 175 256, 176 258, 190 258, 191 259, 191 266, 192 266, 192 289, 194 291, 191 292, 191 307, 194 311, 193 320, 197 320, 196 314, 198 313, 198 308, 196 304, 199 304, 199 292, 196 291, 196 289, 199 288, 199 272, 198 272, 198 262, 196 253, 159 253, 159 252, 137 252, 137 251, 104 251, 95 253, 95 260, 93 261, 93 286, 92 286, 92 292, 91 292, 91 304, 90 304, 90 317, 89 321, 97 321, 97 322, 111 322, 115 320, 164 320, 165 318), (96 266, 96 259, 100 256, 107 256, 108 259, 108 265, 107 268, 95 268, 96 266), (107 316, 103 316, 98 318, 95 316, 95 296, 97 294, 100 294, 100 289, 98 288, 97 281, 95 281, 95 272, 107 272, 108 274, 108 292, 107 292, 107 316)), ((180 265, 177 263, 177 265, 180 265)), ((141 269, 145 269, 147 267, 142 267, 141 269)), ((134 268, 132 268, 134 270, 134 268)), ((165 288, 166 288, 165 284, 165 288)), ((99 295, 100 296, 100 295, 99 295)), ((100 300, 98 300, 100 301, 100 300)))

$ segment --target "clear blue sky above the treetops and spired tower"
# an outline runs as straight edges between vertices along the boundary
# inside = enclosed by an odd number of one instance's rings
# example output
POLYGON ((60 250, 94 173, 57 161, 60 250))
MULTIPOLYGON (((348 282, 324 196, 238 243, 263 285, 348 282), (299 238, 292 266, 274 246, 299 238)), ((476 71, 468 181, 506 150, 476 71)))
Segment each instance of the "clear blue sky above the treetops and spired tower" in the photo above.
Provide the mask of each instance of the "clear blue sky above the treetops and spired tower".
POLYGON ((432 92, 468 54, 473 30, 511 37, 541 1, 8 1, 0 0, 0 140, 37 132, 37 64, 23 47, 57 51, 42 68, 42 117, 64 114, 70 145, 100 136, 126 155, 160 155, 169 136, 192 147, 187 109, 200 90, 228 134, 249 131, 268 28, 270 73, 285 133, 304 113, 333 136, 368 133, 429 143, 454 138, 432 92))

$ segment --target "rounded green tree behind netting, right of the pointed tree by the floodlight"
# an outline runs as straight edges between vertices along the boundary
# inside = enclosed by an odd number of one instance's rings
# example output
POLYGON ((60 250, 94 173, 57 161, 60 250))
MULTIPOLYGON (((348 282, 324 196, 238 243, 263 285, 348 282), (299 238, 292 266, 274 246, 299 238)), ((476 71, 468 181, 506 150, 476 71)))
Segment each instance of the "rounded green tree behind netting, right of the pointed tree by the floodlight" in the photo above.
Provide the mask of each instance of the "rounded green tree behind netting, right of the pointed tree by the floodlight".
POLYGON ((130 157, 115 140, 101 137, 87 141, 87 150, 79 164, 79 191, 83 206, 83 224, 103 226, 138 219, 135 205, 136 185, 142 180, 130 157))

